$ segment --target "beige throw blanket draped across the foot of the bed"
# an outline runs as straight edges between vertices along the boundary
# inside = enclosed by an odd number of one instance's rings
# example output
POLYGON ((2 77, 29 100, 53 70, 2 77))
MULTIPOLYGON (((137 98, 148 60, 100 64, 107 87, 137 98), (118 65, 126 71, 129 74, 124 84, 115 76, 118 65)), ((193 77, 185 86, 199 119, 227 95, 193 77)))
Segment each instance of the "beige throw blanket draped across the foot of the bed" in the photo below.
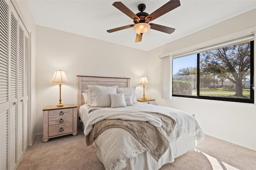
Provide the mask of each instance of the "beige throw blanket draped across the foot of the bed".
POLYGON ((153 125, 150 125, 150 123, 143 121, 106 119, 94 124, 91 132, 85 136, 86 145, 90 146, 94 142, 94 138, 108 128, 124 128, 125 130, 130 132, 147 149, 147 151, 156 161, 158 161, 159 158, 164 154, 164 152, 166 152, 169 146, 170 135, 176 125, 176 121, 171 117, 160 113, 147 113, 159 117, 162 121, 162 126, 155 127, 153 125))

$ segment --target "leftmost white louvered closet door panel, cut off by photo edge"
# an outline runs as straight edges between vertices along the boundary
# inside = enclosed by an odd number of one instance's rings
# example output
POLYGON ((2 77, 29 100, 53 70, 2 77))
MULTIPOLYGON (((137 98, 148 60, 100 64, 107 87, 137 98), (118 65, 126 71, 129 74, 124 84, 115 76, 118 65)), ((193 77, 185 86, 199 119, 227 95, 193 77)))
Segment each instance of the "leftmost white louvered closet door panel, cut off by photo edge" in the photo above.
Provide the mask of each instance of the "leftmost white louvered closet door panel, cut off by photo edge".
POLYGON ((8 4, 0 0, 0 170, 8 168, 8 9, 8 4))

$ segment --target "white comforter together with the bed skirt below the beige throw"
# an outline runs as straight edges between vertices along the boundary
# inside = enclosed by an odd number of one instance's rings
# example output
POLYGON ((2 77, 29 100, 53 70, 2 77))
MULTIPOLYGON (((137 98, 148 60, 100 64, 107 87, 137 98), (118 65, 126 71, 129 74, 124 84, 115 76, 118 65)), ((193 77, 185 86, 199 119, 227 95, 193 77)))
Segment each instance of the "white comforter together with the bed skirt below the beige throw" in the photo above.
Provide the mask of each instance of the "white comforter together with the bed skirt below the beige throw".
MULTIPOLYGON (((173 162, 174 158, 184 154, 187 150, 194 148, 196 144, 202 142, 204 139, 204 133, 202 132, 202 129, 200 128, 200 125, 198 125, 196 119, 183 111, 144 103, 137 103, 134 106, 118 109, 154 111, 163 113, 175 119, 177 124, 174 127, 172 135, 170 136, 170 148, 168 149, 168 152, 166 152, 160 158, 159 162, 156 162, 154 158, 152 158, 152 156, 145 151, 146 148, 144 148, 142 144, 140 144, 140 142, 138 142, 126 130, 122 128, 109 128, 105 130, 95 139, 95 146, 97 156, 104 164, 106 170, 134 168, 138 166, 136 165, 137 158, 138 160, 144 162, 143 167, 152 167, 152 169, 158 169, 163 164, 173 162), (179 145, 177 143, 179 140, 182 140, 185 145, 179 145), (145 160, 147 161, 145 162, 145 160)), ((85 119, 83 118, 83 121, 84 120, 86 120, 86 116, 85 119)))

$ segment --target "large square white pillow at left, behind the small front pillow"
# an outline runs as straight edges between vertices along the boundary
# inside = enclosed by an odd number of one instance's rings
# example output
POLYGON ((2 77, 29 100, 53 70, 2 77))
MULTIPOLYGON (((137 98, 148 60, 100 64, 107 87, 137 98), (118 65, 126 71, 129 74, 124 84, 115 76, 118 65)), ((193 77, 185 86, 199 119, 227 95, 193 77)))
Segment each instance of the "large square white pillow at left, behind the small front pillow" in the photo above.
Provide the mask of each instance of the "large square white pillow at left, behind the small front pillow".
POLYGON ((110 94, 116 94, 117 86, 88 85, 90 91, 88 105, 91 107, 110 107, 110 94))

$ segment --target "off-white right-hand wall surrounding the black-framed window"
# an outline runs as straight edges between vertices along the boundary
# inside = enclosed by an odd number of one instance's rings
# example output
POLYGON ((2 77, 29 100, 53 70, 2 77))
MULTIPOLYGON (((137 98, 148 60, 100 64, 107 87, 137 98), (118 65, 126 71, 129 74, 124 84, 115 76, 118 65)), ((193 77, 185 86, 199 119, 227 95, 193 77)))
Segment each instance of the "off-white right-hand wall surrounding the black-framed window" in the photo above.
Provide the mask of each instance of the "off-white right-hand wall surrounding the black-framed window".
MULTIPOLYGON (((225 22, 211 26, 174 42, 148 51, 148 86, 147 95, 154 97, 158 105, 164 105, 195 113, 205 134, 239 144, 256 150, 256 106, 254 104, 210 101, 173 97, 172 100, 161 99, 160 59, 159 55, 175 53, 203 47, 226 38, 235 38, 242 34, 256 32, 256 10, 231 18, 225 22)), ((256 43, 254 42, 254 58, 256 58, 256 43)), ((256 59, 255 59, 256 60, 256 59)), ((256 62, 254 61, 254 65, 256 62)), ((256 71, 254 69, 254 75, 256 71)), ((256 80, 254 80, 254 84, 256 80)), ((254 92, 254 96, 256 93, 254 92)))

